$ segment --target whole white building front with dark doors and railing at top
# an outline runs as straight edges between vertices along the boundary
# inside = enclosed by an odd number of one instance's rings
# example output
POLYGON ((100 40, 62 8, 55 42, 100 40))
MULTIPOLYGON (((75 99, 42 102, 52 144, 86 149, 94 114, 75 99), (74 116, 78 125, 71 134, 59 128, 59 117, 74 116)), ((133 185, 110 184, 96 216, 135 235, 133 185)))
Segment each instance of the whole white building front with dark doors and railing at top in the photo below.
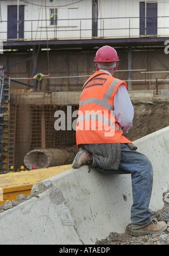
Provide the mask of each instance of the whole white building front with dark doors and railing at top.
POLYGON ((0 40, 168 37, 169 1, 2 0, 0 40))

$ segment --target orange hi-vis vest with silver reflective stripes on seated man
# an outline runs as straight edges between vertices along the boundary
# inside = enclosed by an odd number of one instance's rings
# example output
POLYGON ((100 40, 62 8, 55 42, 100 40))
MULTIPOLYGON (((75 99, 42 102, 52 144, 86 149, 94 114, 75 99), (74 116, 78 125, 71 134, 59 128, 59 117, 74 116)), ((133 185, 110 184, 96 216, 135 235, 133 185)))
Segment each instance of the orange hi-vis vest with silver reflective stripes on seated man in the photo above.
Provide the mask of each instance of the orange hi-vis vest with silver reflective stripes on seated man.
POLYGON ((114 113, 114 96, 121 84, 127 88, 126 82, 103 71, 95 72, 86 81, 79 99, 77 146, 132 143, 123 135, 114 113))

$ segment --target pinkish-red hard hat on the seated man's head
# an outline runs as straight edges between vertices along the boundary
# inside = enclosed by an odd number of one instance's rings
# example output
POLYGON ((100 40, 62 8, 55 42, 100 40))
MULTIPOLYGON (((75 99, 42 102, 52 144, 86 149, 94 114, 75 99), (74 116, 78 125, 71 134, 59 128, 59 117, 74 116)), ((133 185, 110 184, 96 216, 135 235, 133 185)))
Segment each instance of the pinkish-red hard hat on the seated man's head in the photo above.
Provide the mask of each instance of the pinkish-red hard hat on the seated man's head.
POLYGON ((101 47, 97 50, 95 62, 117 62, 119 57, 116 50, 108 45, 101 47))

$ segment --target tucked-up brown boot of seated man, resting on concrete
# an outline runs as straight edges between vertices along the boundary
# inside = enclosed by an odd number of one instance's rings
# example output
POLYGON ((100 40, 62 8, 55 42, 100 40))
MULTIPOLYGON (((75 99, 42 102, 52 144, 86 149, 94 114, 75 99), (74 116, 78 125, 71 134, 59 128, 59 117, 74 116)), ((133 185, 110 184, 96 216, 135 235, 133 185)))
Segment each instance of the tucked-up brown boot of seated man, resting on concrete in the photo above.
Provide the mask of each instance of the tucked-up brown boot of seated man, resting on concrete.
POLYGON ((80 148, 79 152, 75 156, 72 164, 72 168, 77 169, 82 165, 90 165, 92 163, 93 156, 92 153, 85 150, 83 147, 80 148))

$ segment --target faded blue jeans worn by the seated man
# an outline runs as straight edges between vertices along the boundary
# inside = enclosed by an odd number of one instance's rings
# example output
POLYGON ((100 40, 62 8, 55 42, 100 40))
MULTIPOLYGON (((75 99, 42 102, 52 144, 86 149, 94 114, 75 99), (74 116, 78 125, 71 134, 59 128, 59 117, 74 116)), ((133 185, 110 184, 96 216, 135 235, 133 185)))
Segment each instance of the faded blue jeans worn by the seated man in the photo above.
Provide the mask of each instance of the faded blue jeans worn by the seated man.
POLYGON ((93 162, 93 167, 99 172, 108 174, 130 174, 132 180, 131 227, 143 228, 152 222, 152 212, 149 210, 153 187, 153 167, 150 160, 143 154, 132 151, 127 144, 121 144, 121 163, 118 170, 105 170, 93 162))

